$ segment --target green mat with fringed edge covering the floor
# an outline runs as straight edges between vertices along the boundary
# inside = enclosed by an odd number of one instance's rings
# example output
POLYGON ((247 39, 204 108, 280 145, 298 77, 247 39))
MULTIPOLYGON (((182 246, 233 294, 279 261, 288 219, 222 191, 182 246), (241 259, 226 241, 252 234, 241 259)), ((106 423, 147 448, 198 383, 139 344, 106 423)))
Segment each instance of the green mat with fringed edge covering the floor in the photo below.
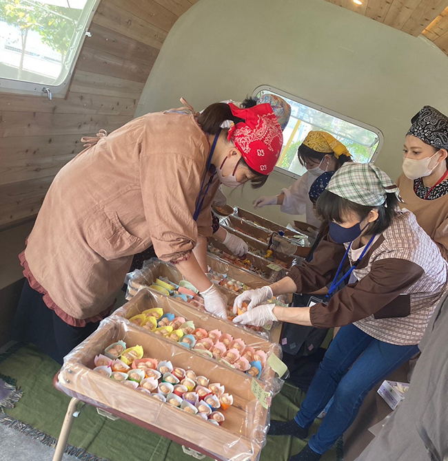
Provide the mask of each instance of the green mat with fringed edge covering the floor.
MULTIPOLYGON (((0 422, 38 438, 46 444, 54 443, 59 436, 65 411, 70 398, 54 389, 52 379, 59 365, 34 347, 15 347, 0 356, 0 374, 10 376, 23 390, 23 396, 14 409, 5 409, 0 422), (3 359, 3 360, 2 360, 3 359)), ((292 419, 303 400, 303 393, 295 387, 285 385, 281 394, 274 398, 272 418, 292 419)), ((312 433, 316 431, 312 428, 312 433)), ((70 432, 69 453, 80 460, 105 459, 123 461, 192 461, 183 453, 179 444, 157 436, 130 422, 112 421, 96 413, 93 407, 85 407, 74 420, 70 432), (97 457, 97 458, 96 458, 97 457)), ((268 437, 261 453, 261 461, 287 461, 298 453, 305 442, 292 437, 268 437)), ((322 461, 342 460, 341 448, 327 452, 322 461)), ((210 458, 205 458, 205 461, 210 458)))

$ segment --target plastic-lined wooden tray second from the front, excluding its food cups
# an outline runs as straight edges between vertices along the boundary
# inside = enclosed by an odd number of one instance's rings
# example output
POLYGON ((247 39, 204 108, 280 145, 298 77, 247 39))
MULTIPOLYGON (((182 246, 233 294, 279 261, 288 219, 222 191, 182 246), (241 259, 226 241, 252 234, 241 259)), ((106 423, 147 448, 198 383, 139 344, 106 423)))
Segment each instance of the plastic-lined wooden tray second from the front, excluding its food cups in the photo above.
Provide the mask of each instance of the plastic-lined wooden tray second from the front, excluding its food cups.
MULTIPOLYGON (((152 292, 149 289, 142 288, 128 303, 123 305, 114 312, 114 315, 123 317, 124 319, 132 319, 132 317, 141 314, 143 311, 152 308, 162 308, 163 312, 172 312, 175 317, 183 317, 186 321, 193 321, 195 328, 203 328, 207 332, 212 330, 219 330, 223 334, 230 334, 232 338, 241 339, 244 341, 245 346, 254 347, 256 350, 262 350, 266 354, 266 359, 269 359, 271 354, 275 354, 278 358, 281 358, 281 345, 278 343, 268 341, 262 338, 260 335, 245 330, 234 323, 227 322, 217 317, 212 316, 208 312, 201 312, 181 301, 176 301, 169 297, 164 297, 162 294, 152 292)), ((137 327, 141 328, 141 327, 137 327)), ((141 328, 143 330, 143 328, 141 328)), ((143 330, 147 332, 147 330, 143 330)), ((148 334, 153 334, 148 332, 148 334)), ((196 350, 192 350, 194 354, 201 354, 196 350)), ((215 363, 214 358, 205 356, 205 360, 215 363)), ((238 374, 245 376, 244 372, 235 370, 238 374)), ((272 395, 278 394, 283 386, 283 380, 274 372, 274 370, 266 362, 261 372, 260 379, 269 383, 269 391, 272 395)))

